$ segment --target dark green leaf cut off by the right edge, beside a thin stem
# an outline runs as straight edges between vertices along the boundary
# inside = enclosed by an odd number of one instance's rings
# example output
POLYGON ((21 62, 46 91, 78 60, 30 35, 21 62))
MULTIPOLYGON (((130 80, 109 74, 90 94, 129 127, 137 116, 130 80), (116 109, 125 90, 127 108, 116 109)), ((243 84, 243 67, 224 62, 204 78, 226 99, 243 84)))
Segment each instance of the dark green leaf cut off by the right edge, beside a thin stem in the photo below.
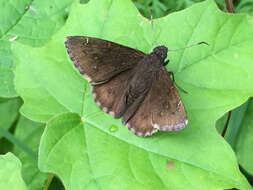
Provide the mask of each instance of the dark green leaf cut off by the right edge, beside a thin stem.
POLYGON ((240 132, 238 133, 235 152, 240 165, 251 175, 253 175, 253 100, 249 100, 249 105, 242 121, 240 132))

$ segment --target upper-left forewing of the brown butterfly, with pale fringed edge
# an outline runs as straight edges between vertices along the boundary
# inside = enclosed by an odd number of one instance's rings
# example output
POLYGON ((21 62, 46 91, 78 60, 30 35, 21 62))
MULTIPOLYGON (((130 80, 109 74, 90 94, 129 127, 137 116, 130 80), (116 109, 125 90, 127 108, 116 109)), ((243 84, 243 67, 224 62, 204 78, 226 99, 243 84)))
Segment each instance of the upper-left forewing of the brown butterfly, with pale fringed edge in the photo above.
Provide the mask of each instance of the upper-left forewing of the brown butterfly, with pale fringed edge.
POLYGON ((109 81, 133 68, 145 55, 136 49, 85 36, 69 36, 65 45, 76 68, 91 84, 109 81))

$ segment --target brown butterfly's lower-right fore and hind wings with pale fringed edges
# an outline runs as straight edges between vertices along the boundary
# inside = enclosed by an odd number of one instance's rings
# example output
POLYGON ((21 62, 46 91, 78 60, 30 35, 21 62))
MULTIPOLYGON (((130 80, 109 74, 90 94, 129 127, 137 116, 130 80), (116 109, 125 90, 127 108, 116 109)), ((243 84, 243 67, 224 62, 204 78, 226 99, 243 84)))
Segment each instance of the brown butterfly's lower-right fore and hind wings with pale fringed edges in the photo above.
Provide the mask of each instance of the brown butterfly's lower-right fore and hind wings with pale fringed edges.
POLYGON ((158 73, 134 116, 126 126, 139 136, 148 136, 158 130, 172 131, 187 124, 184 105, 165 68, 158 73))

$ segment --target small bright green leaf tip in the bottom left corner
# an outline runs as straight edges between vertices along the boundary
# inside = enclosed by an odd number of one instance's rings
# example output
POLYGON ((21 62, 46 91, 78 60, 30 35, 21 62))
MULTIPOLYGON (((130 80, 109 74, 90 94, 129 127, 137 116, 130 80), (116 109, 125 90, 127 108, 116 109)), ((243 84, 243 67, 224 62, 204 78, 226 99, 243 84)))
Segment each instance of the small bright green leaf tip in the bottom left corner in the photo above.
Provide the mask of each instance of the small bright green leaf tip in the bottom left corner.
POLYGON ((21 176, 21 162, 12 153, 0 155, 0 189, 27 189, 21 176))

